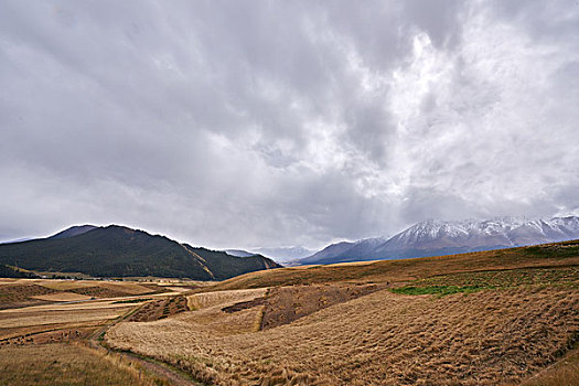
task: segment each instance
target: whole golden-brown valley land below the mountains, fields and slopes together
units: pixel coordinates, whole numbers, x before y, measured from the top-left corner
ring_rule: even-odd
[[[58,366],[117,368],[103,385],[579,380],[579,242],[218,282],[2,279],[0,293],[8,385],[42,385],[23,368],[52,374],[47,347]]]

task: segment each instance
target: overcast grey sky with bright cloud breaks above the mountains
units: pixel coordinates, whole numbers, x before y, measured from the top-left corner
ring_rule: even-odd
[[[0,1],[0,240],[579,214],[579,2]]]

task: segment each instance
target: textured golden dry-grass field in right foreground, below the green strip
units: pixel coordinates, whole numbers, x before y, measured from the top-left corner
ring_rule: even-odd
[[[579,328],[579,293],[521,288],[437,298],[382,290],[276,329],[225,336],[189,318],[121,323],[107,342],[214,384],[495,385],[530,376],[568,347]]]

